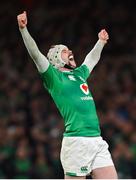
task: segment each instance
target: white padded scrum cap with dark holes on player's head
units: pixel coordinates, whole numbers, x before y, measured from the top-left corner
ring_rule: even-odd
[[[61,52],[66,46],[59,44],[49,49],[47,54],[47,58],[49,62],[56,68],[64,67],[66,62],[64,62],[61,58]]]

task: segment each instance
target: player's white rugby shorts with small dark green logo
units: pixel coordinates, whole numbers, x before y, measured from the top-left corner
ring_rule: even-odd
[[[61,163],[65,175],[86,176],[93,169],[113,166],[108,147],[102,137],[64,137]]]

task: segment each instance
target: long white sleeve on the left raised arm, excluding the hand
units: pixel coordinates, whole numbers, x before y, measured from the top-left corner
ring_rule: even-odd
[[[47,58],[39,51],[35,41],[29,34],[27,28],[20,29],[24,44],[29,52],[29,55],[36,64],[39,72],[45,72],[49,67]]]

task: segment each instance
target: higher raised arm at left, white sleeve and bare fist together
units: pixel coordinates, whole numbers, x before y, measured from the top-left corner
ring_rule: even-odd
[[[24,11],[17,16],[19,30],[21,32],[24,44],[29,52],[29,55],[36,64],[39,72],[45,72],[48,69],[49,62],[47,58],[39,51],[35,41],[27,30],[27,14]]]

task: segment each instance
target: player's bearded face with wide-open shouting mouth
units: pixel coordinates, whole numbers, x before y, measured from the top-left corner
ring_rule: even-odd
[[[61,58],[63,61],[66,62],[67,65],[69,65],[72,68],[76,67],[76,62],[74,60],[74,55],[71,50],[68,48],[64,48],[61,52]]]

